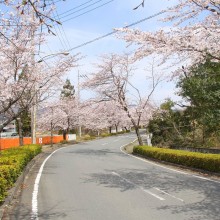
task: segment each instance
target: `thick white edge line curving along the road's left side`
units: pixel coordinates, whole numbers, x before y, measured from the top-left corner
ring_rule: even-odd
[[[46,164],[47,160],[53,155],[55,154],[57,151],[59,150],[62,150],[66,147],[63,147],[63,148],[60,148],[60,149],[57,149],[55,150],[54,152],[52,152],[45,160],[44,162],[42,163],[39,171],[38,171],[38,174],[37,174],[37,177],[35,179],[35,182],[34,182],[34,190],[33,190],[33,193],[32,193],[32,213],[31,213],[31,219],[34,219],[34,220],[38,220],[38,201],[37,201],[37,197],[38,197],[38,189],[39,189],[39,183],[40,183],[40,178],[41,178],[41,175],[42,175],[42,172],[43,172],[43,169],[44,169],[44,165]]]

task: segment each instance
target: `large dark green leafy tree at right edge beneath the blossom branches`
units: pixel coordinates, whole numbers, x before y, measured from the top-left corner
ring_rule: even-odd
[[[205,139],[220,132],[220,63],[210,62],[195,66],[181,77],[177,87],[180,95],[190,103],[187,110],[191,120],[202,131]],[[194,128],[195,129],[195,128]]]

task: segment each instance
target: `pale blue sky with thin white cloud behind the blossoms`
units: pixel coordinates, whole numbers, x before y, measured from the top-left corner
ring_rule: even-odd
[[[176,0],[146,0],[144,7],[133,10],[141,3],[141,0],[66,0],[57,1],[56,10],[53,13],[62,26],[55,25],[53,30],[56,36],[48,36],[47,44],[42,47],[42,56],[58,51],[69,51],[71,54],[81,53],[84,58],[79,62],[79,68],[68,73],[68,78],[77,87],[78,71],[81,75],[90,75],[94,71],[94,63],[99,61],[102,54],[119,53],[131,51],[134,48],[127,47],[126,43],[110,35],[91,44],[71,50],[85,42],[103,36],[136,21],[144,19],[163,9],[175,4]],[[160,17],[144,21],[134,28],[155,31],[161,27],[169,26],[167,23],[158,21]],[[142,94],[147,94],[149,85],[146,80],[146,69],[149,60],[142,60],[137,64],[137,72],[132,78],[133,83],[140,88]],[[156,70],[157,71],[157,70]],[[161,68],[158,68],[161,71]],[[166,70],[171,75],[171,70]],[[80,78],[82,81],[83,78]],[[87,98],[88,92],[81,91],[82,98]],[[160,104],[165,98],[180,100],[175,95],[175,83],[169,79],[164,80],[156,89],[153,98]]]

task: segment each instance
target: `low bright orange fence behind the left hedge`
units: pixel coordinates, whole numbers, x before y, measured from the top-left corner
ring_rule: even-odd
[[[50,144],[50,136],[42,136],[42,137],[37,137],[37,144]],[[53,136],[53,143],[59,143],[63,140],[63,136]],[[31,144],[31,138],[30,137],[24,137],[23,139],[24,145]],[[19,138],[14,137],[14,138],[1,138],[0,139],[0,150],[8,149],[8,148],[13,148],[13,147],[19,147]]]

